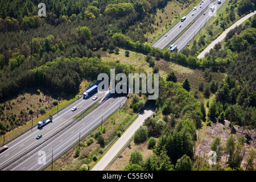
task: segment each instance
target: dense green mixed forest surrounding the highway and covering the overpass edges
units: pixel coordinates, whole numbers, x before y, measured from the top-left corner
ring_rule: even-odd
[[[46,3],[47,16],[43,18],[38,16],[40,2]],[[155,31],[152,24],[156,11],[163,9],[170,2],[168,0],[40,2],[0,2],[0,102],[18,96],[27,88],[37,89],[39,86],[63,97],[76,94],[82,80],[97,80],[98,74],[109,74],[110,68],[115,68],[116,73],[134,73],[135,68],[129,64],[101,60],[101,52],[118,52],[118,47],[122,47],[127,49],[127,56],[129,51],[147,55],[145,63],[150,63],[151,67],[155,67],[154,57],[156,61],[174,61],[184,67],[202,70],[207,83],[199,82],[196,92],[208,100],[206,108],[193,94],[195,90],[191,89],[188,78],[177,82],[174,72],[168,73],[166,80],[160,77],[156,106],[163,117],[146,119],[135,133],[135,136],[146,137],[134,138],[137,144],[148,140],[151,143],[148,148],[152,148],[154,154],[142,162],[141,154],[134,153],[126,170],[207,170],[208,164],[193,154],[196,130],[203,122],[226,119],[231,122],[232,129],[238,125],[255,130],[256,16],[230,31],[225,43],[217,44],[204,59],[197,59],[192,49],[171,53],[147,43],[146,32]],[[238,14],[241,16],[255,10],[251,6],[255,3],[239,1],[236,5]],[[226,77],[214,81],[213,72],[225,73]],[[210,96],[214,96],[211,102]],[[3,115],[5,109],[7,106],[0,105],[1,134],[7,131],[3,123],[11,123],[13,119]],[[222,148],[219,140],[215,138],[211,147],[218,151],[217,160],[226,158],[228,167],[217,166],[215,169],[242,170],[245,141],[241,138],[235,142],[230,135]],[[254,152],[246,159],[250,170],[255,170],[250,162],[255,157]]]

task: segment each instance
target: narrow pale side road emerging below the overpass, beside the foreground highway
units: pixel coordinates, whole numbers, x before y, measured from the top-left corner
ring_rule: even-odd
[[[138,118],[131,124],[131,126],[121,135],[121,137],[114,143],[114,145],[106,152],[106,154],[98,161],[92,168],[92,171],[103,171],[110,162],[115,158],[119,151],[125,144],[133,137],[135,131],[143,124],[144,120],[150,117],[155,111],[155,106],[147,104],[144,110],[138,115]]]

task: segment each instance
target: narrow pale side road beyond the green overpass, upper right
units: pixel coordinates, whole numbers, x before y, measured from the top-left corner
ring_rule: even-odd
[[[228,34],[228,32],[230,30],[232,30],[233,28],[235,28],[236,26],[240,25],[241,23],[243,23],[246,19],[250,18],[251,16],[255,15],[256,14],[256,11],[250,13],[250,14],[247,14],[246,16],[243,16],[243,18],[239,19],[236,23],[234,23],[232,26],[230,26],[227,30],[225,30],[220,36],[218,36],[217,39],[215,39],[212,43],[209,44],[209,46],[207,48],[204,49],[203,52],[201,52],[197,58],[203,58],[205,56],[205,53],[209,52],[210,49],[212,49],[214,47],[215,44],[217,44],[218,42],[221,42],[226,34]]]

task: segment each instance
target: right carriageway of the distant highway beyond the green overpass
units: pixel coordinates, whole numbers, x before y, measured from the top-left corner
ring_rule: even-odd
[[[197,19],[191,25],[191,27],[189,27],[188,30],[184,32],[184,34],[180,35],[179,38],[175,40],[174,44],[177,46],[178,52],[180,52],[185,46],[187,46],[187,44],[201,30],[201,28],[205,26],[210,17],[216,15],[216,11],[224,2],[225,0],[222,0],[221,4],[218,4],[216,1],[215,9],[213,12],[210,11],[210,6],[212,6],[213,3],[210,3],[210,6],[207,9],[205,9],[205,11],[201,12],[199,16],[197,16]]]

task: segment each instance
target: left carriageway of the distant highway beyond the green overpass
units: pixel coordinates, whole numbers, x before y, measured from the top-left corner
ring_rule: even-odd
[[[189,13],[186,16],[186,19],[184,20],[184,22],[181,22],[179,20],[178,23],[175,24],[175,26],[173,26],[168,32],[166,32],[165,34],[167,34],[167,36],[163,35],[161,38],[159,38],[158,40],[156,40],[156,42],[154,42],[151,46],[153,47],[158,47],[161,49],[164,49],[166,46],[168,46],[168,44],[170,44],[181,32],[183,32],[185,30],[185,28],[196,18],[196,16],[200,13],[203,12],[203,10],[208,7],[210,5],[210,3],[212,3],[213,1],[210,0],[204,0],[203,3],[200,3],[196,6],[196,10],[193,11],[189,11]],[[217,3],[216,3],[217,4]],[[201,8],[200,8],[201,6]],[[192,15],[193,14],[193,15]],[[182,17],[180,17],[182,18]],[[179,47],[178,47],[179,49]]]

